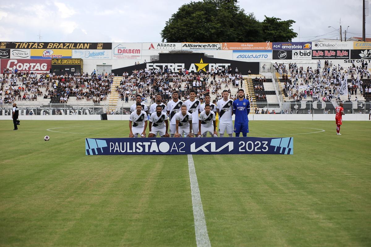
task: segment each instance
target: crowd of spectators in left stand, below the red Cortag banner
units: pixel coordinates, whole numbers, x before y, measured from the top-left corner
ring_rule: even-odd
[[[89,76],[88,73],[55,75],[4,69],[0,76],[0,102],[36,101],[42,97],[66,103],[69,96],[74,95],[78,101],[86,99],[99,103],[105,101],[111,92],[113,78],[113,73],[97,75],[95,70]]]

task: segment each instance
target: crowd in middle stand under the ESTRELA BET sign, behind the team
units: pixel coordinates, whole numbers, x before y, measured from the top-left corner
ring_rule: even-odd
[[[195,90],[197,98],[204,98],[210,94],[214,99],[221,99],[221,91],[227,89],[230,98],[237,98],[232,95],[230,86],[240,87],[242,85],[242,75],[235,71],[226,69],[211,70],[211,72],[188,73],[187,70],[180,70],[179,73],[164,69],[142,69],[134,70],[131,75],[124,73],[120,85],[116,87],[122,101],[134,101],[135,95],[141,95],[142,101],[148,103],[155,102],[155,95],[160,93],[163,101],[171,99],[174,90],[179,91],[180,99],[189,98],[189,91]]]

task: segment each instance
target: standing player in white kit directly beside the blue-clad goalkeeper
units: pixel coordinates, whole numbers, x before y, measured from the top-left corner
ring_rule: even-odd
[[[228,99],[229,93],[227,90],[223,90],[223,99],[220,99],[216,103],[216,111],[219,115],[219,134],[220,137],[224,136],[224,132],[232,137],[233,135],[233,124],[232,124],[232,99]]]

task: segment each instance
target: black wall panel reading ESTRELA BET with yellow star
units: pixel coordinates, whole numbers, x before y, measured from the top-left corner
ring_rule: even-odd
[[[162,71],[164,69],[170,69],[171,72],[177,73],[179,70],[185,68],[189,73],[206,73],[210,72],[213,68],[216,70],[217,67],[220,69],[232,68],[233,72],[237,68],[243,75],[247,75],[249,70],[252,74],[259,74],[259,62],[243,62],[205,57],[204,53],[160,53],[160,59],[158,61],[113,69],[112,72],[115,75],[122,75],[124,72],[131,74],[134,70],[154,68],[161,69]]]

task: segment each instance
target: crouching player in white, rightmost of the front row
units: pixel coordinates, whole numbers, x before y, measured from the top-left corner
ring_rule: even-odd
[[[218,137],[215,124],[215,113],[211,111],[210,105],[205,105],[205,110],[198,117],[198,134],[197,137],[206,137],[207,132],[211,137]]]

